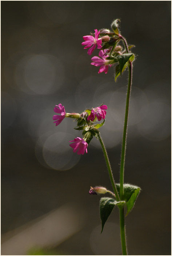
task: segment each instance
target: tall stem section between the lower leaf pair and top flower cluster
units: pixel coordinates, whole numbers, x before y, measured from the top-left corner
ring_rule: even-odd
[[[132,84],[132,63],[128,66],[128,90],[125,108],[125,121],[124,121],[124,132],[123,132],[123,143],[121,151],[121,165],[120,165],[120,200],[123,200],[124,196],[124,165],[125,165],[125,150],[126,150],[126,138],[127,138],[127,123],[128,123],[128,110],[129,110],[129,98]]]

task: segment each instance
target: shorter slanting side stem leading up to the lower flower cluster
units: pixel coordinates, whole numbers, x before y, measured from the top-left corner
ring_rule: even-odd
[[[97,137],[99,138],[101,147],[103,149],[103,153],[104,153],[105,161],[106,161],[108,172],[109,172],[109,177],[110,177],[110,180],[111,180],[111,183],[112,183],[113,191],[115,193],[116,199],[118,201],[120,201],[119,195],[118,195],[118,192],[117,192],[117,189],[116,189],[116,185],[115,185],[115,180],[113,179],[113,173],[112,173],[111,165],[110,165],[110,162],[109,162],[108,154],[107,154],[105,145],[103,143],[103,140],[101,139],[100,133],[97,134]]]

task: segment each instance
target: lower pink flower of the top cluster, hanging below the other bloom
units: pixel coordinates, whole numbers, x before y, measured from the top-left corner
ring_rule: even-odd
[[[102,73],[105,72],[105,74],[107,74],[108,72],[108,66],[111,67],[111,65],[109,65],[109,60],[107,60],[106,58],[108,57],[108,55],[105,55],[106,51],[105,50],[101,50],[99,52],[99,56],[94,56],[91,58],[91,60],[93,61],[91,63],[91,65],[94,65],[96,67],[100,66],[99,72],[98,73]]]

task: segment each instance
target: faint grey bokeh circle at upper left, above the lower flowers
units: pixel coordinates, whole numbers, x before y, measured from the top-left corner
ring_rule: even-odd
[[[46,95],[57,91],[63,84],[64,67],[51,55],[26,55],[16,65],[14,78],[21,91]]]

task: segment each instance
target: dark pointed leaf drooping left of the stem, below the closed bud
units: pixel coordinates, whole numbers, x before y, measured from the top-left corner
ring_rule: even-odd
[[[101,197],[100,199],[100,218],[101,218],[101,233],[104,228],[104,224],[107,221],[109,215],[111,214],[113,207],[117,204],[124,204],[124,201],[116,201],[110,197]]]

